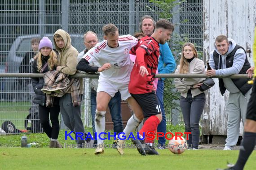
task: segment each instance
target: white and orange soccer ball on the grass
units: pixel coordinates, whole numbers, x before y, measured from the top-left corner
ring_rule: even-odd
[[[184,139],[184,137],[177,137],[177,140],[175,140],[175,136],[172,138],[172,140],[169,141],[168,148],[169,150],[174,154],[181,154],[183,153],[187,148],[187,141]]]

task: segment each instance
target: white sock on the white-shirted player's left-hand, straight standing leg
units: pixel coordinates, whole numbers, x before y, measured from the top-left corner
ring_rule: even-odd
[[[106,114],[106,111],[98,111],[98,110],[96,110],[96,113],[95,113],[94,124],[95,124],[95,131],[97,132],[97,144],[103,144],[103,140],[99,138],[99,134],[105,131],[105,122],[106,122],[105,114]],[[104,134],[101,134],[100,136],[101,138],[103,138]]]

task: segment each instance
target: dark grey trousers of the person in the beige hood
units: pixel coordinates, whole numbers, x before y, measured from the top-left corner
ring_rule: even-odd
[[[60,98],[60,111],[63,121],[71,131],[82,132],[84,134],[84,124],[81,119],[81,107],[73,106],[71,93],[66,93]],[[83,135],[84,139],[84,135]],[[77,144],[85,143],[85,140],[75,140]]]

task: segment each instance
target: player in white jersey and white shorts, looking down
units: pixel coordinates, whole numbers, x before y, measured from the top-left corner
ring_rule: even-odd
[[[132,61],[129,51],[137,44],[137,38],[131,35],[119,36],[118,28],[113,24],[107,24],[102,28],[104,41],[90,49],[77,65],[77,70],[84,72],[100,72],[97,89],[97,109],[95,114],[95,129],[97,132],[97,149],[95,154],[104,153],[103,134],[105,130],[105,114],[107,105],[116,92],[121,93],[122,100],[127,100],[134,112],[133,119],[127,123],[127,131],[132,132],[143,119],[141,106],[128,92],[128,84],[132,71]],[[91,67],[93,62],[100,64],[100,68]],[[119,152],[120,153],[120,152]],[[120,154],[123,154],[120,153]]]

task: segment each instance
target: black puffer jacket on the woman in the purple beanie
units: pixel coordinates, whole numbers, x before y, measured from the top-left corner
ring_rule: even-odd
[[[44,64],[47,62],[47,60],[49,59],[49,56],[44,57],[42,56],[42,68],[44,67]],[[53,70],[56,70],[56,67],[54,67]],[[44,68],[44,71],[42,73],[48,72],[49,68],[48,66]],[[32,65],[32,73],[40,73],[37,70],[37,59],[35,59],[35,61],[33,62]],[[39,104],[41,106],[45,106],[46,103],[46,95],[41,91],[41,89],[44,86],[44,78],[43,77],[37,77],[37,78],[31,78],[32,79],[32,85],[33,85],[33,89],[35,92],[35,98],[34,98],[34,103]],[[54,97],[54,102],[53,105],[58,105],[59,104],[59,98],[58,97]]]

